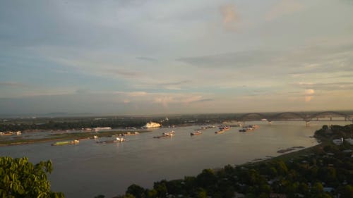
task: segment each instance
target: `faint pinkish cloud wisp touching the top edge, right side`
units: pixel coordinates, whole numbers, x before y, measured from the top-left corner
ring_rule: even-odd
[[[297,11],[301,11],[304,8],[303,4],[296,0],[280,0],[278,1],[272,9],[266,14],[266,20],[274,20],[275,18],[280,18]]]

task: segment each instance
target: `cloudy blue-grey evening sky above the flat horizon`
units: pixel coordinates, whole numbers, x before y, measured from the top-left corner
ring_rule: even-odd
[[[0,1],[0,114],[353,109],[353,1]]]

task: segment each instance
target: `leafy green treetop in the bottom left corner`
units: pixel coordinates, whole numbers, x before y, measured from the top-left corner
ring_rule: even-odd
[[[33,165],[28,158],[0,158],[0,197],[62,198],[62,192],[50,191],[47,173],[52,172],[52,161]]]

